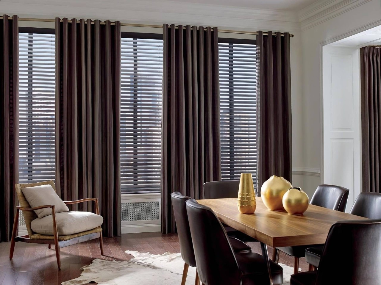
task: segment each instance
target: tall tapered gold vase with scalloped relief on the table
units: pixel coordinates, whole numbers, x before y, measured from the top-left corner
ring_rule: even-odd
[[[241,173],[238,189],[238,210],[242,214],[252,214],[256,207],[253,176],[250,172]]]

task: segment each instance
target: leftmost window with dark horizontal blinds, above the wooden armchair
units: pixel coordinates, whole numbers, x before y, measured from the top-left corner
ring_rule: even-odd
[[[54,37],[51,29],[20,28],[20,183],[54,179]]]

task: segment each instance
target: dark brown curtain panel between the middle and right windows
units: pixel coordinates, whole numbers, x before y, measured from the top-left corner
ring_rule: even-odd
[[[217,28],[163,26],[162,232],[174,232],[171,193],[202,199],[221,180]]]

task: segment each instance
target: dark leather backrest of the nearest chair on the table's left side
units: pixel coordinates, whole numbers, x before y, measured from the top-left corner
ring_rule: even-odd
[[[204,284],[240,285],[241,272],[224,227],[209,207],[187,200],[197,272]]]

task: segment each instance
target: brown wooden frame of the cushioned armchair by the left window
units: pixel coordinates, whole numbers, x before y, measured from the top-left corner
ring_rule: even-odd
[[[46,181],[49,182],[48,184],[53,183],[53,181]],[[38,184],[38,183],[34,183]],[[53,186],[54,188],[54,186]],[[55,190],[55,189],[54,189]],[[87,198],[87,199],[81,199],[76,201],[63,201],[66,205],[70,204],[78,204],[88,201],[94,201],[95,202],[95,211],[96,214],[99,215],[99,205],[98,205],[98,198]],[[18,223],[19,223],[19,212],[22,211],[34,211],[39,210],[43,208],[51,208],[52,211],[52,218],[53,218],[53,237],[54,239],[31,239],[29,234],[28,235],[20,235],[16,237],[16,232],[18,229]],[[93,239],[99,239],[99,246],[101,248],[101,255],[103,255],[103,239],[102,239],[102,231],[100,232],[94,232],[91,234],[82,235],[79,237],[74,237],[69,240],[59,240],[58,231],[57,231],[57,223],[56,223],[56,213],[54,211],[55,206],[54,205],[43,205],[38,206],[34,208],[25,208],[25,207],[16,207],[16,216],[14,217],[13,222],[13,231],[12,231],[12,238],[11,238],[11,249],[9,253],[9,258],[13,258],[13,252],[14,252],[14,246],[16,242],[26,242],[26,243],[42,243],[42,244],[48,244],[49,248],[51,248],[51,245],[54,244],[54,248],[56,250],[56,257],[57,257],[57,265],[58,269],[61,270],[61,256],[60,256],[60,248],[61,247],[67,247],[69,245],[74,245],[76,243],[86,242],[88,240]]]

